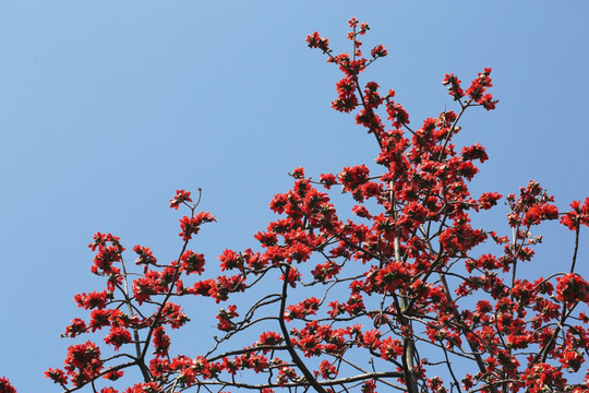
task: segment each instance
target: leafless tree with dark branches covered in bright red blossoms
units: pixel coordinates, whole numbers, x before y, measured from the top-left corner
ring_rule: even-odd
[[[255,235],[260,251],[224,251],[227,273],[217,277],[201,278],[205,258],[190,249],[201,226],[215,222],[197,211],[200,194],[193,203],[178,190],[170,201],[190,213],[180,219],[183,243],[172,262],[135,246],[133,272],[120,239],[96,234],[92,272],[106,278],[106,288],[75,296],[89,318],[74,319],[64,335],[104,332],[110,354],[91,340],[70,346],[64,368],[46,372],[63,391],[117,392],[108,380],[127,382],[123,374],[133,377],[133,369],[142,382],[124,392],[589,390],[581,367],[589,283],[575,273],[589,198],[560,212],[530,181],[505,199],[510,236],[472,228],[471,216],[502,195],[470,194],[474,163],[488,156],[480,144],[458,150],[454,141],[467,109],[495,108],[491,69],[466,91],[447,74],[443,83],[457,111],[413,129],[395,92],[383,95],[375,82],[360,82],[387,51],[378,45],[363,57],[360,38],[369,26],[349,23],[351,55],[334,55],[318,33],[306,41],[344,73],[333,107],[357,112],[378,147],[376,167],[346,167],[318,181],[296,168],[292,189],[271,203],[280,218]],[[336,187],[351,196],[351,214],[336,211]],[[569,265],[546,277],[519,277],[518,264],[530,262],[541,241],[532,227],[552,219],[574,234]],[[497,251],[481,253],[484,242]],[[199,356],[172,354],[171,330],[189,321],[179,302],[192,296],[228,302],[217,315],[219,336]],[[11,389],[0,380],[0,392]]]

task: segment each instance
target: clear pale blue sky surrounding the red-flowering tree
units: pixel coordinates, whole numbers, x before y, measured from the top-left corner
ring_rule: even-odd
[[[0,0],[0,377],[59,390],[43,371],[71,344],[59,334],[79,315],[73,295],[103,284],[89,273],[95,231],[172,260],[168,200],[202,187],[218,224],[195,248],[215,263],[255,245],[294,167],[316,177],[372,162],[373,141],[330,109],[339,71],[304,43],[318,31],[349,51],[351,16],[370,23],[366,47],[390,53],[362,78],[396,90],[412,124],[453,108],[445,73],[468,83],[493,68],[497,109],[462,123],[460,141],[491,157],[473,191],[534,179],[562,209],[585,199],[587,15],[585,0]],[[567,263],[570,245],[555,228],[538,263]],[[214,314],[185,329],[211,335]]]

